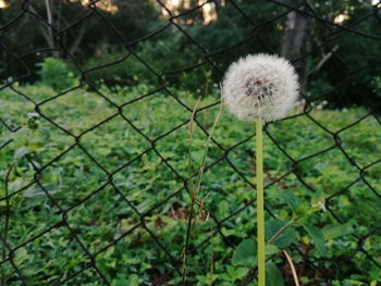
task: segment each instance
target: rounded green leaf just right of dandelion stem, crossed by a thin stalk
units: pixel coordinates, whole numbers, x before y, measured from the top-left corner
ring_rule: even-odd
[[[270,220],[266,222],[266,241],[269,241],[286,223],[281,220]],[[287,227],[271,244],[278,248],[286,248],[296,240],[296,232],[293,227]]]

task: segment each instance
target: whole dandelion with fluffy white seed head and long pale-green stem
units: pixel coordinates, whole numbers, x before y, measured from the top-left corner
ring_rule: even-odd
[[[256,122],[258,286],[266,285],[262,123],[285,116],[296,104],[298,90],[290,62],[265,53],[232,63],[221,85],[228,110],[239,120]]]

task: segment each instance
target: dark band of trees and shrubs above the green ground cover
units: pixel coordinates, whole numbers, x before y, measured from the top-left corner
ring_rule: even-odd
[[[196,94],[216,89],[239,57],[270,52],[293,61],[308,98],[331,108],[381,100],[376,0],[102,0],[96,9],[89,2],[0,0],[0,80],[49,84],[45,69],[46,77],[61,75],[52,84],[59,91],[76,77],[110,87],[161,83]]]

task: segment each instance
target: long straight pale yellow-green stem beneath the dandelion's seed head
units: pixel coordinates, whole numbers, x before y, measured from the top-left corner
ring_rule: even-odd
[[[265,286],[265,202],[263,202],[263,157],[262,122],[256,121],[256,169],[257,169],[257,241],[258,241],[258,286]]]

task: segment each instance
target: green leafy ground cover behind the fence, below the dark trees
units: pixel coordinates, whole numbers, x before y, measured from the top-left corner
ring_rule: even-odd
[[[35,102],[57,95],[46,86],[17,90]],[[101,89],[118,105],[149,91],[147,86]],[[195,105],[190,94],[172,91],[187,107]],[[160,285],[181,285],[190,207],[184,182],[189,176],[192,110],[160,91],[122,105],[118,113],[108,100],[81,88],[40,105],[54,125],[44,116],[28,117],[34,105],[13,90],[3,89],[0,98],[1,119],[22,127],[10,133],[0,124],[0,146],[13,140],[0,150],[0,197],[13,194],[0,201],[0,233],[8,241],[8,247],[1,245],[3,285],[22,285],[7,260],[10,256],[29,285],[54,285],[82,270],[63,284],[103,285],[101,273],[113,286],[155,285],[169,273]],[[206,97],[200,108],[216,100],[217,96]],[[197,122],[209,130],[218,110],[219,105],[200,110]],[[293,111],[302,112],[302,107]],[[290,172],[293,161],[266,135],[267,239],[272,240],[267,249],[269,285],[293,285],[281,249],[292,256],[304,285],[325,285],[324,277],[336,286],[381,282],[381,234],[373,231],[380,224],[381,164],[369,165],[381,153],[380,124],[368,116],[341,130],[366,113],[361,108],[314,110],[310,117],[268,126],[272,139],[298,160],[295,172]],[[336,140],[314,121],[333,133],[341,130]],[[207,167],[197,196],[202,207],[196,206],[194,212],[189,249],[197,248],[187,260],[189,285],[211,281],[239,285],[256,264],[256,212],[248,206],[255,199],[253,135],[251,123],[222,112],[212,136],[220,146],[209,146],[206,165],[214,164]],[[362,169],[365,181],[340,148],[330,149],[337,140]],[[195,124],[192,173],[199,169],[206,141],[207,135]],[[328,151],[308,158],[323,150]],[[40,170],[37,176],[34,169]],[[324,203],[336,217],[324,211]],[[274,237],[287,223],[291,226]],[[357,251],[359,247],[366,252]],[[171,272],[176,260],[180,272]]]

